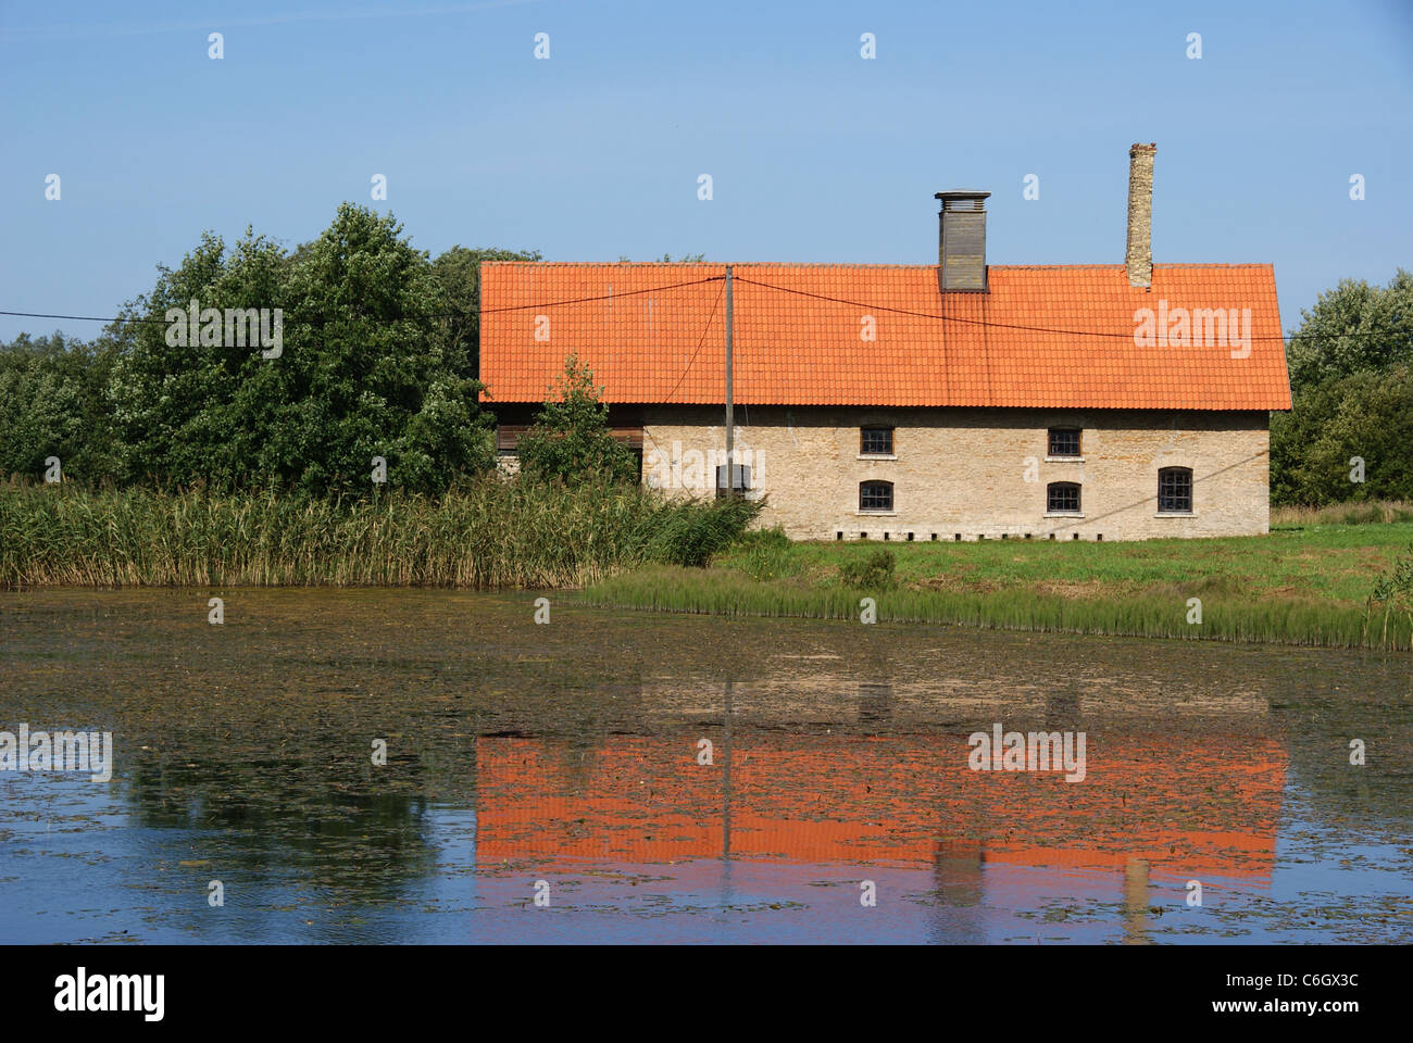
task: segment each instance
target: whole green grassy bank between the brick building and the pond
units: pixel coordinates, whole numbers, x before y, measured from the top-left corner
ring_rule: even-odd
[[[1308,524],[1270,536],[1142,543],[797,543],[752,533],[705,570],[606,578],[593,605],[716,615],[877,619],[1013,630],[1413,647],[1407,601],[1368,615],[1413,522]],[[892,570],[870,570],[886,547]],[[1190,599],[1201,602],[1201,622]],[[1385,609],[1389,609],[1385,612]]]

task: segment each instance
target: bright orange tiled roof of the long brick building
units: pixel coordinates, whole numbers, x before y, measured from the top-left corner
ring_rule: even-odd
[[[989,293],[947,295],[930,264],[732,267],[740,404],[1290,408],[1269,264],[1154,264],[1152,291],[1130,287],[1122,264],[992,266]],[[544,401],[574,352],[609,403],[722,403],[723,271],[482,264],[490,400]],[[1135,312],[1160,301],[1249,308],[1249,355],[1137,346]],[[873,341],[861,338],[866,315]]]

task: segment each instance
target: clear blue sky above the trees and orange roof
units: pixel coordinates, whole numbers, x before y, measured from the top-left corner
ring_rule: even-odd
[[[1413,0],[0,3],[0,310],[112,315],[343,199],[434,256],[934,263],[933,194],[981,188],[992,263],[1116,263],[1133,141],[1154,260],[1275,263],[1287,328],[1413,267]],[[97,332],[0,317],[54,328]]]

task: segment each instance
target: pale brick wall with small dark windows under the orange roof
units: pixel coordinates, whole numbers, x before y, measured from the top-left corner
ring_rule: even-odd
[[[896,459],[861,458],[861,427],[893,427]],[[1145,540],[1269,531],[1269,414],[1142,410],[738,407],[736,449],[760,524],[794,538]],[[1047,459],[1051,427],[1080,459]],[[725,462],[723,410],[646,411],[643,481],[706,495]],[[1193,469],[1193,514],[1159,516],[1157,472]],[[893,512],[859,512],[859,483],[893,483]],[[1082,517],[1046,517],[1046,486],[1078,482]]]

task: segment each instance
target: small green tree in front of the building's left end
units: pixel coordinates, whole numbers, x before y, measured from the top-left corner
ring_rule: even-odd
[[[613,438],[609,407],[593,373],[571,355],[551,397],[517,444],[520,473],[528,481],[585,482],[637,478],[632,451]]]

